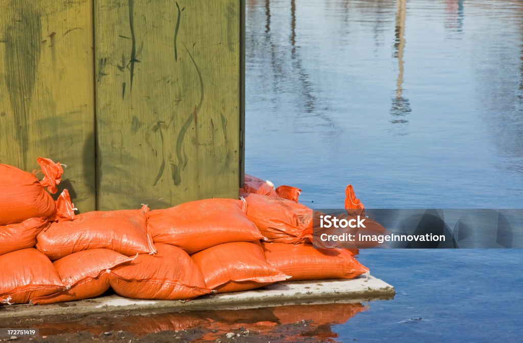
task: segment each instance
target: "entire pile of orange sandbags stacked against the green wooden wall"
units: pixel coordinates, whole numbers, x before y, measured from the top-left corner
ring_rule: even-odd
[[[48,193],[57,191],[61,165],[38,163],[40,181],[0,165],[1,303],[87,299],[109,288],[128,298],[182,300],[368,270],[356,249],[312,246],[313,213],[295,187],[275,189],[247,175],[240,200],[76,215],[67,190],[57,201]],[[345,205],[363,209],[351,186]]]

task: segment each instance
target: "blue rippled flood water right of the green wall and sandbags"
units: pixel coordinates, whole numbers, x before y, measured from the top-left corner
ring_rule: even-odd
[[[343,207],[521,208],[523,2],[247,0],[249,174]],[[523,250],[362,250],[336,341],[519,341]]]

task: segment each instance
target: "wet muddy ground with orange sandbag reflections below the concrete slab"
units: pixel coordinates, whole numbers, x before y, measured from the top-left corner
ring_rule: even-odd
[[[39,329],[39,336],[17,337],[21,342],[335,342],[333,327],[366,309],[334,302],[147,315],[127,310],[13,318],[2,326]]]

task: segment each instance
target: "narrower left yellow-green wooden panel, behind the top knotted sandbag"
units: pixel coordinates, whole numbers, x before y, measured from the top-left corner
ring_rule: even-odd
[[[68,188],[95,209],[92,0],[0,0],[0,163],[68,165]]]

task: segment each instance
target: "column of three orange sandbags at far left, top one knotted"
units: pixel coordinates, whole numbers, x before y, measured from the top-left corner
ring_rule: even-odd
[[[34,248],[36,237],[49,225],[55,193],[63,173],[59,163],[38,158],[43,174],[0,164],[0,303],[27,303],[65,289],[49,258]]]

